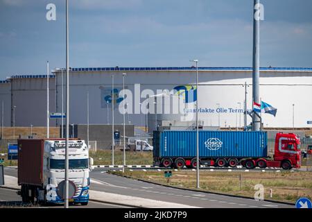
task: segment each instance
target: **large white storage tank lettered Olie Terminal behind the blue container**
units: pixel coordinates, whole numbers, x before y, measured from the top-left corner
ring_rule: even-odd
[[[122,104],[123,101],[123,94],[120,93],[123,87],[123,73],[127,74],[125,88],[132,92],[132,101],[127,105],[131,112],[125,114],[125,121],[134,123],[136,126],[148,125],[146,114],[139,114],[140,110],[148,108],[146,105],[147,95],[153,97],[163,89],[179,89],[178,93],[182,92],[182,95],[185,95],[185,92],[196,92],[194,91],[196,89],[196,69],[194,67],[73,68],[69,78],[69,122],[87,123],[87,92],[89,92],[89,122],[112,123],[112,75],[114,75],[114,101],[116,104],[114,105],[114,123],[122,123],[119,103]],[[61,71],[55,71],[53,74],[56,81],[55,112],[60,112],[62,106]],[[65,75],[63,76],[65,80]],[[198,76],[198,111],[199,119],[204,126],[243,127],[245,100],[243,85],[245,83],[249,85],[247,87],[247,109],[251,110],[252,69],[199,68]],[[65,84],[65,81],[63,83]],[[261,68],[260,95],[261,101],[277,108],[276,117],[271,114],[261,114],[264,127],[311,127],[307,121],[312,120],[312,69]],[[129,99],[128,96],[127,94],[126,98]],[[195,112],[194,106],[192,106],[195,101],[195,97],[187,101],[184,111]],[[157,121],[170,119],[168,115],[162,116],[164,110],[159,108],[158,104],[159,101],[155,99],[149,105],[150,109],[151,106],[157,105],[155,121],[157,118]],[[249,116],[247,121],[248,124],[251,122]],[[153,126],[155,125],[153,124]],[[153,128],[153,126],[148,127]]]

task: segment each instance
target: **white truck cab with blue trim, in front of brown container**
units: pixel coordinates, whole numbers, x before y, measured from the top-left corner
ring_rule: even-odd
[[[65,179],[65,148],[64,140],[46,140],[44,142],[43,187],[45,187],[45,191],[41,191],[39,196],[40,199],[47,202],[64,202],[58,196],[57,189],[60,182]],[[84,140],[69,140],[69,182],[76,187],[75,194],[69,196],[71,202],[87,205],[90,185],[89,171],[92,162],[89,159],[89,151]]]

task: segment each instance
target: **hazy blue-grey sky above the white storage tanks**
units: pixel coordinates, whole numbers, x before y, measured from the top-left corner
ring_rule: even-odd
[[[0,0],[0,79],[65,66],[64,0]],[[55,3],[57,20],[46,21]],[[262,0],[261,67],[312,67],[312,1]],[[69,0],[70,67],[252,66],[252,0]]]

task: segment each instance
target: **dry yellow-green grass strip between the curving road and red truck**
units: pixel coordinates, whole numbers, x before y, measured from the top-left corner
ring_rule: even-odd
[[[159,182],[175,187],[196,189],[196,172],[173,171],[173,176],[167,183],[164,172],[158,171],[125,171],[110,172],[119,175],[130,176],[151,182]],[[242,187],[240,182],[242,176]],[[200,171],[200,189],[222,194],[234,194],[239,196],[254,197],[254,185],[261,184],[264,187],[264,195],[268,200],[281,200],[295,203],[297,198],[312,197],[312,172],[210,172]],[[272,189],[272,198],[270,198]]]

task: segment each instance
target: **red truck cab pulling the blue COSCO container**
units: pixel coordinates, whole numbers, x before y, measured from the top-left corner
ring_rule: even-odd
[[[277,133],[273,159],[274,161],[268,161],[268,167],[300,168],[300,138],[293,133]]]

